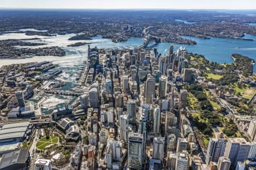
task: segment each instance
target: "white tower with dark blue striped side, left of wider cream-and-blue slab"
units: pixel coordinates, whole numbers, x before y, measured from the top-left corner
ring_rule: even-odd
[[[210,162],[218,162],[218,158],[224,156],[226,148],[226,141],[222,138],[210,138],[206,163],[209,165]]]

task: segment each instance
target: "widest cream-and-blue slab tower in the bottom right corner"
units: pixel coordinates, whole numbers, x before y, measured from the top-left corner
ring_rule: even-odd
[[[230,159],[230,166],[235,168],[238,161],[243,162],[247,158],[249,150],[250,143],[245,138],[229,138],[224,156]]]

